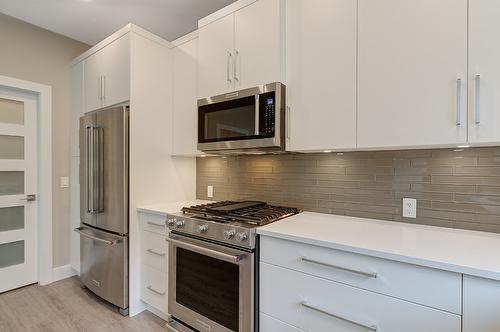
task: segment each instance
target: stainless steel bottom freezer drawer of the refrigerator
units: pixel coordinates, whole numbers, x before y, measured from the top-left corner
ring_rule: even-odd
[[[92,292],[120,307],[128,307],[128,236],[83,225],[80,233],[80,281]]]

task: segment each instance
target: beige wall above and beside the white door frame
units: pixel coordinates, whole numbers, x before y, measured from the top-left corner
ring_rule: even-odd
[[[69,263],[71,75],[69,64],[89,45],[0,14],[0,75],[52,86],[53,265]]]

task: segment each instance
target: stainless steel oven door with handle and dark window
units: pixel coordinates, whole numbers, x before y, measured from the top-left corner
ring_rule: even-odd
[[[254,253],[170,233],[168,310],[201,332],[253,332]]]

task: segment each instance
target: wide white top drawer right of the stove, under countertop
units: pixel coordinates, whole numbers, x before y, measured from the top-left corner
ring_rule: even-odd
[[[261,261],[461,313],[458,273],[353,254],[304,243],[261,237]],[[370,274],[376,274],[370,275]]]

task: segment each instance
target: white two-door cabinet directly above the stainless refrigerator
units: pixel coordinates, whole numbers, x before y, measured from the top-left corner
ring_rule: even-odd
[[[130,99],[130,36],[126,34],[84,60],[85,112]]]

